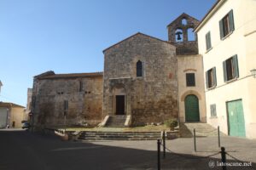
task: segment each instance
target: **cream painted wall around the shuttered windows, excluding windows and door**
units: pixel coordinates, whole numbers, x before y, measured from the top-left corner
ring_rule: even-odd
[[[247,138],[256,138],[256,78],[251,70],[256,68],[256,1],[223,0],[225,2],[210,20],[197,30],[199,54],[203,55],[204,72],[216,66],[217,87],[206,89],[207,122],[220,126],[228,133],[226,102],[242,99]],[[235,31],[220,40],[218,21],[233,9]],[[207,52],[206,34],[211,31],[212,49]],[[224,82],[223,61],[234,54],[238,57],[239,78]],[[210,105],[216,104],[217,118],[211,118]]]

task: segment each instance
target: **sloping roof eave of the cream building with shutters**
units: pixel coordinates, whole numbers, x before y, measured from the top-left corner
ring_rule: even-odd
[[[218,8],[220,8],[225,2],[226,0],[217,0],[217,2],[213,4],[212,8],[209,9],[209,11],[204,16],[204,18],[199,22],[199,24],[195,26],[194,31],[198,32],[201,29],[201,27],[204,26],[207,23],[207,21],[212,17],[213,13],[217,11]]]

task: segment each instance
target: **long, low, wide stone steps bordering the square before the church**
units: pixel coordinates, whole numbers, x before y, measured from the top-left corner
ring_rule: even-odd
[[[177,133],[168,132],[167,139],[177,138]],[[161,139],[161,132],[93,132],[84,131],[79,140],[156,140]]]

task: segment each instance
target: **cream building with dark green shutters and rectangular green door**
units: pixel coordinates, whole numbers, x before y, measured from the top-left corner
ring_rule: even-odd
[[[220,0],[195,28],[206,75],[207,122],[249,139],[256,138],[255,8],[255,0]]]

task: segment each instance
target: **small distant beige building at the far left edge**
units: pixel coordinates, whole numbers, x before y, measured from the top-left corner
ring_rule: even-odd
[[[23,120],[26,120],[25,107],[13,103],[0,102],[0,128],[5,128],[7,125],[11,128],[20,128]]]

